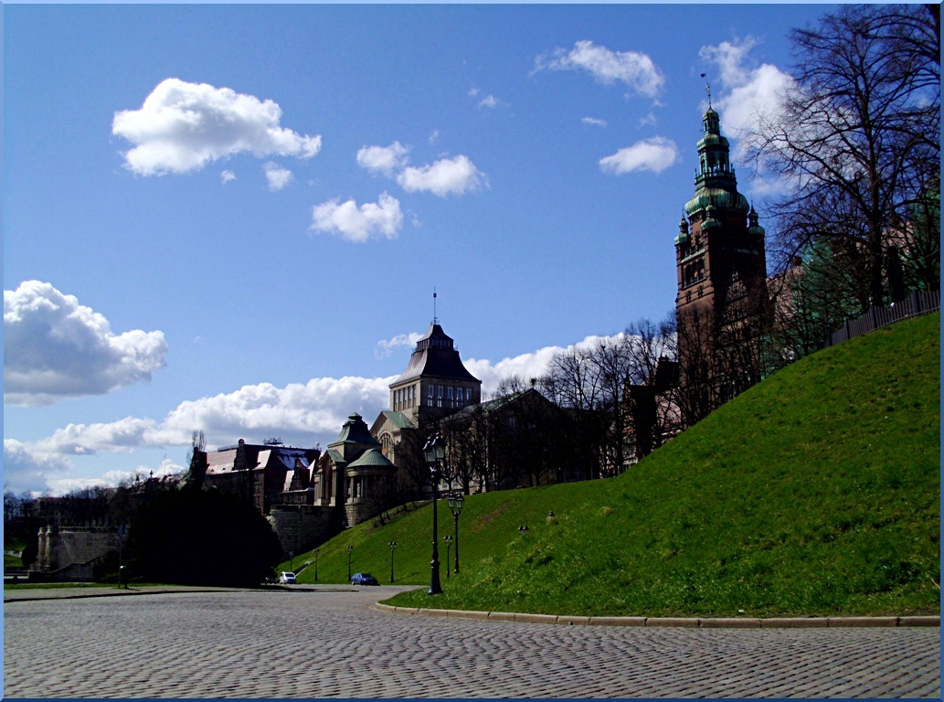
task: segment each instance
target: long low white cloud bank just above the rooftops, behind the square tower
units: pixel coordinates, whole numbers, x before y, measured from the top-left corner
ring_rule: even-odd
[[[380,341],[378,347],[393,350],[414,344],[419,336],[398,334]],[[490,394],[504,378],[518,376],[527,381],[544,375],[560,351],[594,348],[600,340],[609,338],[613,337],[588,336],[566,348],[549,346],[497,363],[470,358],[464,360],[464,365],[482,381],[482,391]],[[100,478],[77,477],[74,460],[100,452],[125,454],[134,449],[189,446],[194,428],[202,430],[212,446],[266,436],[291,437],[295,445],[330,441],[352,412],[359,412],[368,423],[377,417],[389,402],[389,385],[396,377],[313,378],[284,387],[269,383],[244,385],[233,392],[180,402],[160,422],[126,417],[110,423],[70,424],[31,443],[4,439],[5,480],[16,492],[51,490],[56,494],[92,485],[117,485],[150,469],[139,466],[133,471],[108,471]],[[165,459],[154,471],[160,476],[183,469]]]

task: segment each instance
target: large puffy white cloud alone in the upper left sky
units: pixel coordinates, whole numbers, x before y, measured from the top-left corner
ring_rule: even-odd
[[[187,173],[238,153],[310,159],[321,150],[320,136],[281,127],[281,116],[272,100],[167,78],[140,110],[115,112],[111,133],[135,145],[126,167],[141,176]]]

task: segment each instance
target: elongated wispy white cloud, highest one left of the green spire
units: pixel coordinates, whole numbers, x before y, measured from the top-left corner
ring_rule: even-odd
[[[534,71],[586,71],[604,85],[615,81],[625,84],[630,94],[656,97],[666,78],[646,54],[636,51],[611,51],[605,46],[582,41],[567,49],[554,49],[550,56],[538,57]]]

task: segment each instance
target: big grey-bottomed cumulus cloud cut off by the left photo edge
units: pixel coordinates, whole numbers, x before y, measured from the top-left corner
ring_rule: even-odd
[[[50,283],[4,290],[3,306],[5,404],[104,395],[164,367],[162,332],[113,334],[108,319]]]

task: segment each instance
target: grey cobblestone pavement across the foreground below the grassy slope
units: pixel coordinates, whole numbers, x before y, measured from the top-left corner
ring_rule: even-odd
[[[940,629],[520,624],[397,588],[8,602],[12,697],[940,697]]]

